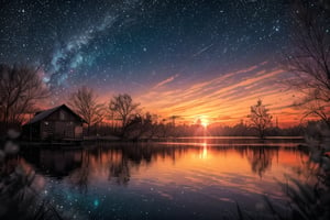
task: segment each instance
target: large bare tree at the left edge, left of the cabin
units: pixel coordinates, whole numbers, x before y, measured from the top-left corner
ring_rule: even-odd
[[[6,130],[9,125],[22,124],[36,102],[50,95],[38,70],[24,65],[0,65],[0,121]]]

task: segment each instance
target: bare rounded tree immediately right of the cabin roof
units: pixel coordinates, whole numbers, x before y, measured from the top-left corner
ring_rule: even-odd
[[[69,106],[87,122],[89,135],[90,127],[102,121],[105,106],[98,102],[95,91],[86,86],[73,92],[69,99]]]

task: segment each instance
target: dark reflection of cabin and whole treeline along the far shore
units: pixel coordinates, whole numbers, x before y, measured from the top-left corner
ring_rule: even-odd
[[[178,141],[178,140],[177,140]],[[248,158],[251,170],[262,177],[265,172],[270,170],[272,160],[279,151],[300,152],[297,147],[280,147],[267,145],[267,141],[258,141],[258,145],[252,145],[255,140],[180,140],[180,142],[160,143],[105,143],[103,145],[86,146],[79,151],[45,151],[33,158],[38,170],[46,175],[62,178],[65,176],[73,187],[86,193],[88,186],[96,179],[102,178],[111,184],[128,185],[134,170],[140,167],[150,166],[157,160],[169,160],[175,163],[182,155],[188,151],[200,152],[202,143],[210,142],[209,148],[221,154],[231,154],[234,152],[241,155],[242,160]],[[186,143],[188,142],[188,143]],[[200,143],[199,143],[200,142]],[[250,143],[251,142],[251,143]],[[265,144],[265,145],[264,145]],[[278,145],[282,143],[278,141]],[[47,152],[47,153],[45,153]],[[63,155],[63,156],[61,156]],[[301,156],[304,157],[305,154]],[[24,156],[25,157],[25,156]],[[31,161],[31,160],[30,160]],[[57,165],[56,165],[57,164]],[[52,167],[62,167],[62,172]],[[54,173],[55,172],[55,173]]]

